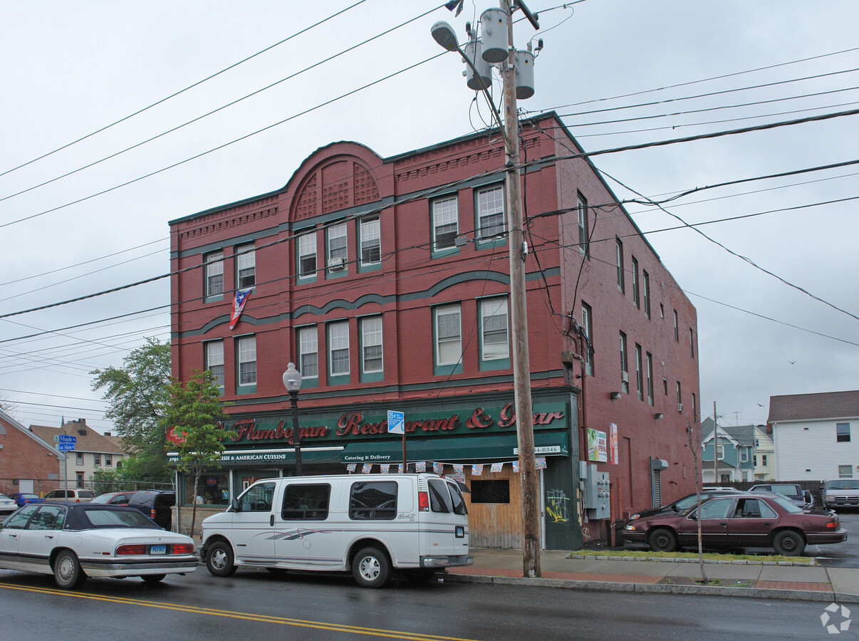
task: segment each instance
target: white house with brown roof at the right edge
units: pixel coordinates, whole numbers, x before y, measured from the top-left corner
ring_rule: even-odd
[[[770,397],[776,480],[859,478],[859,390]]]

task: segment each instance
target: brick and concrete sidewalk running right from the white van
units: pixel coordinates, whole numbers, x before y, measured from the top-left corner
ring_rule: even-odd
[[[503,583],[549,588],[612,592],[663,592],[674,594],[752,596],[762,599],[801,599],[859,603],[859,569],[808,565],[775,565],[720,561],[705,563],[709,584],[699,583],[698,559],[634,559],[623,550],[607,551],[600,558],[569,559],[570,552],[540,553],[542,577],[522,577],[521,550],[472,548],[474,565],[451,568],[448,580]],[[686,559],[684,559],[685,561]],[[801,565],[799,565],[801,563]]]

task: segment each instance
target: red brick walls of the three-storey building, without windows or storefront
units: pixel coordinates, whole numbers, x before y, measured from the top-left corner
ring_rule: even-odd
[[[696,311],[590,162],[565,157],[581,150],[555,114],[524,121],[521,140],[521,159],[529,163],[522,186],[533,394],[571,390],[579,396],[585,388],[571,406],[573,412],[583,406],[584,416],[570,418],[573,437],[581,443],[576,455],[582,458],[586,428],[607,431],[618,425],[618,464],[598,467],[612,480],[612,516],[622,518],[653,500],[651,459],[667,461],[661,472],[666,498],[694,488],[686,430],[699,409]],[[387,159],[357,143],[332,143],[302,162],[282,190],[171,222],[174,375],[186,380],[192,369],[204,369],[204,344],[216,341],[222,344],[224,399],[235,403],[227,411],[235,417],[283,412],[289,401],[281,374],[288,361],[299,364],[297,330],[317,327],[320,375],[302,385],[302,408],[449,402],[509,392],[509,357],[484,358],[480,331],[482,303],[503,300],[509,292],[507,238],[482,238],[476,211],[479,192],[503,184],[503,158],[502,141],[483,134]],[[458,241],[436,250],[434,199],[450,197],[456,198]],[[587,257],[579,247],[581,197],[588,203]],[[379,217],[380,257],[362,264],[361,221],[373,217]],[[347,256],[343,269],[334,271],[326,268],[326,247],[331,226],[338,223],[345,224]],[[296,236],[302,234],[315,238],[312,277],[298,275]],[[618,289],[618,241],[624,291]],[[230,331],[234,253],[250,243],[255,285]],[[213,252],[223,254],[223,293],[206,297],[203,263]],[[592,310],[594,347],[594,372],[584,385],[572,331],[574,321],[582,323],[582,302]],[[462,358],[450,366],[440,365],[436,354],[436,313],[445,305],[460,309]],[[362,320],[368,316],[381,316],[381,375],[361,370]],[[334,321],[348,327],[346,375],[330,374]],[[620,333],[627,340],[628,391],[621,386]],[[256,340],[253,388],[237,382],[237,344],[243,336]],[[652,405],[646,380],[643,399],[637,398],[637,345],[643,364],[652,356]],[[620,398],[612,400],[612,392],[621,392]],[[600,535],[600,523],[587,527],[589,535]]]

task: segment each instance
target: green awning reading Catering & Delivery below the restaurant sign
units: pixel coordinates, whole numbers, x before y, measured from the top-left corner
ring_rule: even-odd
[[[518,457],[515,434],[497,436],[464,436],[462,438],[430,438],[408,440],[405,456],[409,461],[482,461]],[[566,432],[537,432],[534,450],[538,456],[569,456],[570,444]],[[303,455],[303,451],[302,451]],[[349,443],[340,454],[344,463],[396,463],[403,460],[401,439],[365,443]]]

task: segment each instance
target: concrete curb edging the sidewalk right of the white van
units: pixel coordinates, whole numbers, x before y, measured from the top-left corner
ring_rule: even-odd
[[[574,579],[490,577],[476,574],[446,574],[445,581],[520,585],[535,588],[582,589],[593,592],[631,592],[641,594],[745,596],[755,599],[796,599],[799,601],[837,601],[859,603],[859,595],[838,594],[832,590],[733,588],[716,585],[672,585],[666,583],[621,583],[613,581],[576,581]]]

